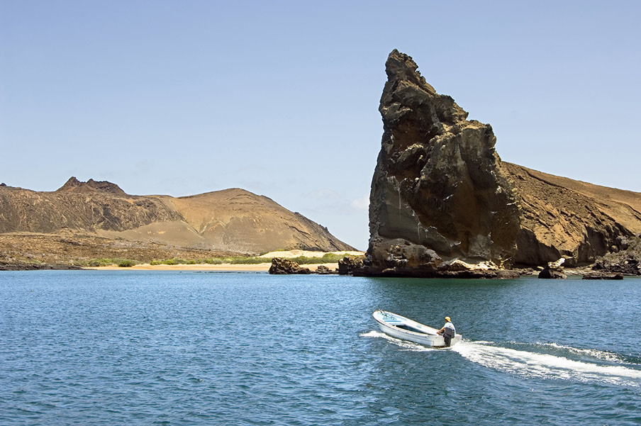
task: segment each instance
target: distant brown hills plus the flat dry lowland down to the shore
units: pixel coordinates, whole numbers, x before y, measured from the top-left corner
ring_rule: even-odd
[[[133,196],[75,178],[57,191],[0,186],[0,268],[69,267],[89,259],[210,259],[273,250],[354,250],[327,228],[243,189]]]

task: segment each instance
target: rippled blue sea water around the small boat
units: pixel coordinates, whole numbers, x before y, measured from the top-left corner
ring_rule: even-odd
[[[640,425],[641,279],[0,273],[0,425]],[[386,337],[372,312],[464,341]]]

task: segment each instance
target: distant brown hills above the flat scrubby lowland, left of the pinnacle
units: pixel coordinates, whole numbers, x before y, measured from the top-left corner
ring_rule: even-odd
[[[110,182],[74,177],[53,192],[0,186],[0,233],[21,235],[18,241],[25,232],[244,254],[353,250],[318,223],[243,189],[133,196]]]

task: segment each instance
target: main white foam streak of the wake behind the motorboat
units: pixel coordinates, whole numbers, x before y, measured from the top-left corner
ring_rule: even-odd
[[[641,386],[641,370],[622,365],[604,366],[479,342],[463,341],[452,347],[452,351],[482,366],[520,376]]]

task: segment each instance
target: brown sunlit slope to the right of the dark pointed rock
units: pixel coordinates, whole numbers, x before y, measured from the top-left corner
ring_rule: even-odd
[[[554,176],[507,162],[520,197],[514,263],[542,265],[568,257],[591,264],[641,233],[641,194]]]

